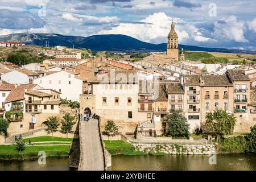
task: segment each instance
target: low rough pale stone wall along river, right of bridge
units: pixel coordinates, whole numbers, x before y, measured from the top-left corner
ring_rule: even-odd
[[[131,143],[137,151],[147,154],[161,152],[164,154],[180,155],[211,155],[215,154],[214,144],[143,144]]]

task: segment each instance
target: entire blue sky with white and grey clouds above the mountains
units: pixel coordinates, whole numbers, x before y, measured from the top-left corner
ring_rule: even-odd
[[[125,34],[167,42],[256,50],[254,0],[0,0],[0,35],[19,32],[90,36]]]

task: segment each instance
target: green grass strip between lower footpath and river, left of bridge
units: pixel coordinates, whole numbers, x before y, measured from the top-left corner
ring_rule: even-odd
[[[46,152],[46,156],[69,156],[70,146],[35,146],[26,147],[21,153],[15,150],[14,145],[1,145],[0,146],[0,160],[11,159],[34,159],[38,158],[38,152]]]

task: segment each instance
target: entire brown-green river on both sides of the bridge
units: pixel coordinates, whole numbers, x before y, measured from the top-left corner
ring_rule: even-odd
[[[119,155],[112,156],[109,170],[256,170],[256,155],[217,155],[216,165],[210,165],[209,158],[208,155]],[[0,170],[68,171],[69,158],[47,158],[46,165],[39,165],[38,160],[0,161]]]

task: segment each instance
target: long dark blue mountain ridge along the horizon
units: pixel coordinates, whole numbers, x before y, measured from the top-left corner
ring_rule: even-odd
[[[51,47],[65,46],[72,48],[89,48],[92,51],[139,51],[139,52],[162,52],[166,51],[167,44],[152,44],[142,42],[131,36],[122,34],[105,34],[72,36],[61,34],[33,34],[19,33],[0,36],[0,42],[23,42],[28,46],[46,46],[46,41],[49,41]],[[256,51],[226,49],[226,48],[208,48],[199,46],[187,46],[179,44],[179,48],[189,49],[191,51],[207,51],[207,52],[226,52],[226,53],[256,53]]]

